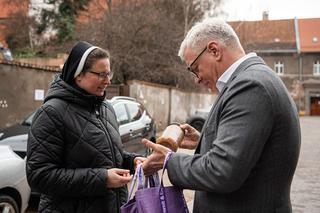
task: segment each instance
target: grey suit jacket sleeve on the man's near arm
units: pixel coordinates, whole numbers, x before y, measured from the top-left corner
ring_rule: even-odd
[[[274,122],[268,91],[258,82],[241,80],[220,104],[219,120],[214,121],[218,128],[208,125],[201,142],[211,148],[193,156],[174,153],[169,160],[168,175],[174,185],[229,193],[241,187],[258,161]],[[210,137],[214,131],[216,137]]]

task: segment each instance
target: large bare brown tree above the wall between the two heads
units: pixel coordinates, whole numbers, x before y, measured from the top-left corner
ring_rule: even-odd
[[[198,0],[106,0],[103,19],[77,29],[77,40],[110,50],[114,83],[138,79],[194,89],[177,52],[185,32],[205,14]],[[207,1],[206,9],[214,2]]]

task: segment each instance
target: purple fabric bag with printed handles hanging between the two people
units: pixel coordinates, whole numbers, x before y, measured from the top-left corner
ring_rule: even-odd
[[[121,206],[121,213],[188,213],[186,201],[182,190],[176,186],[163,186],[163,174],[167,168],[168,160],[172,152],[169,152],[163,164],[161,181],[158,173],[146,178],[143,183],[142,165],[138,165],[132,185],[130,187],[130,199],[135,182],[138,180],[138,190],[135,196]]]

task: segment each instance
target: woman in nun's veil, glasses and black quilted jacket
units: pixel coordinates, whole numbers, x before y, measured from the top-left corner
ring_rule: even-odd
[[[76,44],[32,122],[27,178],[41,193],[39,212],[119,212],[126,184],[144,158],[122,150],[105,89],[109,53]],[[130,171],[129,171],[129,170]]]

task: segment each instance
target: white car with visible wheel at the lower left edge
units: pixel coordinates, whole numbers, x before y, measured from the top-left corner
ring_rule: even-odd
[[[0,212],[22,213],[28,206],[30,188],[25,160],[10,146],[0,146]]]

